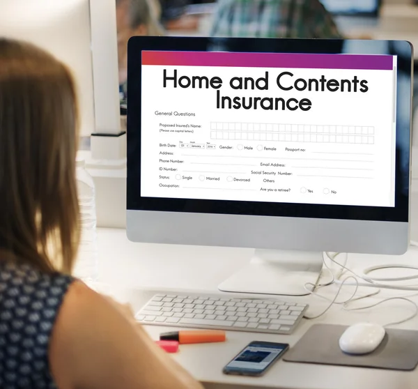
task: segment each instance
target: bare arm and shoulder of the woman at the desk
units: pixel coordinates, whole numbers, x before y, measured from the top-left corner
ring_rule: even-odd
[[[49,363],[62,389],[203,388],[132,316],[81,282],[57,316]]]

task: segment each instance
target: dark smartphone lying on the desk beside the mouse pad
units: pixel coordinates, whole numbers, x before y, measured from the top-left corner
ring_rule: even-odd
[[[289,348],[285,343],[251,342],[224,367],[224,374],[262,376]]]

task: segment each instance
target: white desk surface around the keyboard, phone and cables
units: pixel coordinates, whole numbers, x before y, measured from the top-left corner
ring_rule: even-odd
[[[138,309],[149,290],[189,291],[218,293],[217,284],[238,270],[251,257],[252,250],[221,247],[187,247],[173,245],[148,245],[127,240],[123,229],[99,229],[100,283],[107,286],[99,290],[114,296],[121,302],[129,302]],[[368,266],[376,263],[394,263],[418,266],[418,250],[412,249],[401,258],[385,256],[350,255],[350,267]],[[356,266],[357,265],[357,266]],[[146,289],[140,290],[140,289]],[[148,291],[147,291],[148,289]],[[345,287],[341,298],[347,297],[350,287]],[[336,286],[321,293],[334,297]],[[362,289],[367,292],[369,289]],[[382,291],[376,298],[369,298],[359,305],[370,305],[388,296],[412,296],[418,302],[418,293]],[[260,297],[260,296],[258,296]],[[321,298],[308,296],[286,298],[309,303],[310,314],[315,314],[327,306]],[[354,305],[353,305],[354,306]],[[196,379],[211,389],[251,388],[281,389],[416,389],[418,369],[414,372],[364,369],[355,367],[334,367],[286,363],[280,360],[259,378],[226,376],[222,367],[238,351],[253,340],[284,342],[294,346],[297,340],[313,323],[335,323],[349,325],[358,321],[388,323],[394,318],[403,318],[412,311],[412,305],[392,300],[371,310],[347,312],[336,305],[326,315],[314,321],[303,320],[293,335],[268,335],[229,331],[227,342],[220,344],[183,345],[180,352],[173,354]],[[396,328],[418,329],[418,318]],[[147,326],[150,335],[157,340],[158,335],[169,327]],[[418,333],[417,333],[418,335]],[[326,340],[324,340],[326,342]]]

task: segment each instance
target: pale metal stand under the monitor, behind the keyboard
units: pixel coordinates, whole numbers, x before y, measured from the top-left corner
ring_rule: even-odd
[[[259,250],[245,268],[218,289],[235,293],[307,296],[305,284],[315,284],[323,267],[320,252]]]

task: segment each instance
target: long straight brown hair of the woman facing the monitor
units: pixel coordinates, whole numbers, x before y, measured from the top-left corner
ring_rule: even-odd
[[[0,259],[71,272],[77,139],[68,69],[33,45],[0,38]]]

